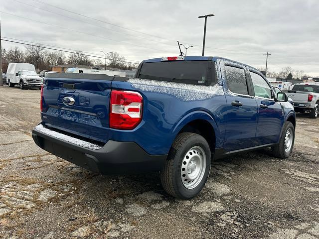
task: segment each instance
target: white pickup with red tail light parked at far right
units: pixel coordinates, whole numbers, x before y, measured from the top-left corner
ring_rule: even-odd
[[[295,84],[287,95],[293,100],[296,112],[310,113],[314,119],[319,116],[319,82]]]

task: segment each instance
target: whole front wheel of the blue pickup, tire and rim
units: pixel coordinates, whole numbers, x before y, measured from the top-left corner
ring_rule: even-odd
[[[279,143],[272,147],[275,157],[288,158],[293,151],[295,141],[295,127],[292,122],[286,121]]]

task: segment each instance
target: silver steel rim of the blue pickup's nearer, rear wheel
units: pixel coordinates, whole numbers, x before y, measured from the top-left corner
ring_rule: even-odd
[[[185,154],[180,177],[185,188],[193,189],[202,181],[206,169],[206,154],[200,146],[194,146]]]

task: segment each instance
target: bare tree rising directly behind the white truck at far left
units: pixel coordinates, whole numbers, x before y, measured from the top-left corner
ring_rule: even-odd
[[[41,44],[26,46],[25,61],[35,66],[35,69],[46,69],[47,52]]]

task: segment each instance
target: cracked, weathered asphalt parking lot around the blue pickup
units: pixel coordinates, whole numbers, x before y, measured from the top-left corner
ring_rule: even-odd
[[[0,238],[319,238],[319,119],[297,116],[292,156],[213,163],[201,194],[175,200],[159,174],[101,176],[31,137],[40,91],[0,88]]]

